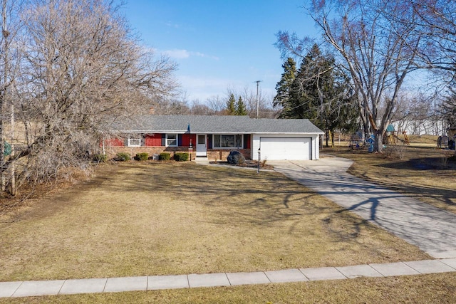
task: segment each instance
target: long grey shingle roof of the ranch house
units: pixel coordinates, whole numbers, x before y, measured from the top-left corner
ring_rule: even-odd
[[[114,122],[120,132],[185,133],[323,133],[306,119],[265,119],[248,116],[140,115]]]

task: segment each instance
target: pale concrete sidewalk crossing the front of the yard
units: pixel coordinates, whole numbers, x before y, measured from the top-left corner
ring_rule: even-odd
[[[295,268],[251,273],[207,273],[179,276],[88,278],[56,281],[0,282],[0,298],[136,290],[218,287],[267,283],[341,280],[358,277],[411,276],[456,271],[456,258],[344,267]]]

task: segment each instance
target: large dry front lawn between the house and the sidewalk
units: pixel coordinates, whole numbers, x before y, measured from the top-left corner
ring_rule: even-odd
[[[104,166],[0,224],[0,281],[269,271],[428,258],[276,172]]]

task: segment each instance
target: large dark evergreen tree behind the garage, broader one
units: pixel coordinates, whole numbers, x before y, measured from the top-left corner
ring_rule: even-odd
[[[281,100],[280,117],[307,118],[326,132],[351,131],[358,125],[353,101],[348,77],[336,69],[334,58],[324,56],[314,45],[303,58],[288,96]]]

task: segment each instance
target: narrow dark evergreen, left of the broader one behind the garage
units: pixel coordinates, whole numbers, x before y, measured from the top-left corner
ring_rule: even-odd
[[[284,73],[282,73],[281,80],[276,85],[277,94],[274,97],[272,105],[274,108],[281,107],[280,117],[287,117],[291,113],[291,103],[290,103],[290,92],[291,85],[296,78],[296,62],[293,58],[287,58],[285,63],[282,65],[284,68]]]

